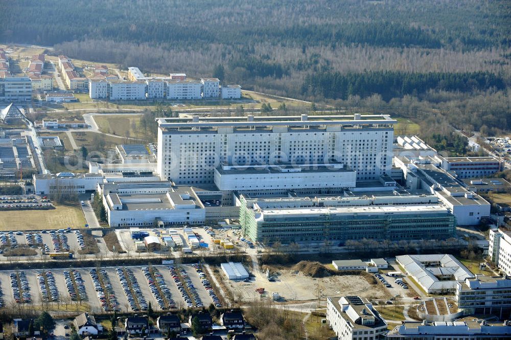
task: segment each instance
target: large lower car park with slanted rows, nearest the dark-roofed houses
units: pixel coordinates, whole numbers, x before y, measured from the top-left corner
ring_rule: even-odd
[[[204,286],[198,271],[192,265],[181,265],[180,267],[184,270],[183,273],[188,275],[190,282],[193,284],[193,290],[196,292],[196,298],[198,298],[198,300],[193,300],[193,307],[201,305],[205,307],[209,306],[214,302],[211,294],[217,299],[216,293],[214,291],[213,293],[210,292],[213,288],[206,288],[206,286]],[[118,269],[121,269],[128,281],[130,281],[128,273],[132,273],[132,277],[136,280],[138,290],[140,291],[140,294],[134,294],[137,289],[134,285],[135,281],[131,279],[129,292],[133,293],[133,297],[136,300],[135,308],[142,307],[140,301],[143,299],[147,304],[151,303],[154,310],[169,309],[170,306],[168,303],[165,304],[164,308],[161,308],[155,294],[151,291],[149,281],[144,276],[143,268],[156,269],[160,274],[158,293],[163,291],[161,288],[167,287],[168,293],[170,293],[170,297],[174,302],[172,307],[187,307],[183,294],[179,290],[179,285],[176,284],[172,278],[169,266],[165,265],[151,267],[127,266],[76,269],[30,269],[20,271],[3,270],[0,271],[0,288],[3,293],[0,298],[3,299],[3,303],[9,305],[12,303],[24,303],[22,300],[24,297],[27,297],[24,303],[27,307],[30,305],[40,305],[42,303],[61,305],[72,301],[81,301],[90,306],[91,312],[102,312],[104,311],[104,306],[98,298],[98,291],[89,273],[91,269],[95,269],[96,273],[100,273],[101,270],[104,270],[109,280],[113,296],[109,296],[109,293],[107,293],[105,300],[107,300],[107,302],[112,302],[114,299],[116,301],[115,305],[118,307],[119,311],[132,312],[134,311],[132,308],[133,304],[130,304],[123,283],[119,279]],[[11,279],[11,274],[14,279]],[[23,282],[24,278],[26,278],[26,282]],[[187,293],[191,295],[191,286],[188,287],[184,283],[185,278],[183,278],[183,276],[179,276],[179,279],[182,282],[182,286],[186,287],[185,290]],[[101,280],[101,282],[103,285],[101,285],[100,289],[103,289],[107,282],[104,280]],[[166,297],[168,298],[169,294],[167,294]],[[195,301],[200,301],[200,304]],[[219,302],[216,302],[216,304],[217,303]],[[145,309],[147,310],[147,306]]]

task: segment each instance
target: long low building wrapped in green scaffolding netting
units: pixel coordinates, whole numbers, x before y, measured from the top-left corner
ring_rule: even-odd
[[[392,199],[390,197],[389,199]],[[408,197],[410,199],[410,197]],[[361,199],[363,200],[363,199]],[[271,244],[343,244],[347,240],[448,239],[455,234],[455,217],[442,205],[429,203],[380,204],[351,199],[260,199],[240,196],[240,223],[244,235]],[[336,204],[334,204],[336,203]],[[362,203],[364,205],[353,205]]]

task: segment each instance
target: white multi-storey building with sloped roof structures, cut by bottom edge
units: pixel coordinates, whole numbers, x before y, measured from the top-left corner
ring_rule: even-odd
[[[365,298],[327,298],[327,322],[338,340],[377,340],[387,323]]]

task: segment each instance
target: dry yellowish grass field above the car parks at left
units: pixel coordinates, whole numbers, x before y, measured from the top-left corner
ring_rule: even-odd
[[[76,205],[57,205],[52,210],[11,210],[0,212],[0,230],[43,230],[84,228],[85,217]]]

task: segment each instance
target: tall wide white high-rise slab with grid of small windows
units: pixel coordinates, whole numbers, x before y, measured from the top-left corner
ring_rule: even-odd
[[[390,172],[389,116],[158,119],[158,172],[176,184],[213,184],[215,168],[324,163],[355,170],[357,180]]]

